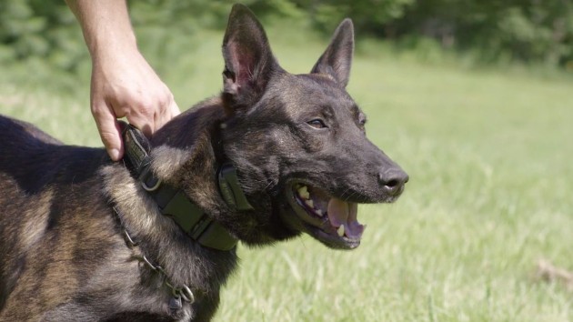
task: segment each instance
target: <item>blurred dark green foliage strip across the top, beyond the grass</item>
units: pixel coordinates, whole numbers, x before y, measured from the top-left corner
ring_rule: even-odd
[[[142,45],[197,28],[223,28],[232,1],[130,1]],[[573,65],[573,5],[569,0],[246,0],[263,18],[307,20],[331,32],[344,17],[357,32],[397,45],[434,39],[448,49],[476,53],[484,62]],[[271,20],[271,19],[267,19]],[[166,28],[169,25],[169,28]],[[0,2],[0,63],[42,59],[74,69],[87,52],[64,0]]]

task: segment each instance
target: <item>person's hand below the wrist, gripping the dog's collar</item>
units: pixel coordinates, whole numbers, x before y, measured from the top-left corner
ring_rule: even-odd
[[[126,117],[150,137],[180,113],[179,107],[136,49],[102,51],[92,61],[92,115],[107,153],[118,161],[124,156],[124,145],[117,118]]]

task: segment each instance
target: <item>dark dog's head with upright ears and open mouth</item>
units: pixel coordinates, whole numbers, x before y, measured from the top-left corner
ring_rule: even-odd
[[[306,232],[357,247],[357,204],[393,202],[404,190],[407,174],[367,139],[367,118],[345,89],[353,50],[346,19],[310,74],[292,75],[245,6],[229,16],[221,144],[270,239]]]

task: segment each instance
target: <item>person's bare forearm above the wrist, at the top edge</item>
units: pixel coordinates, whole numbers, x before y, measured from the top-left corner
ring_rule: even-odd
[[[136,50],[136,36],[125,0],[65,0],[82,26],[85,44],[95,58],[118,50]]]

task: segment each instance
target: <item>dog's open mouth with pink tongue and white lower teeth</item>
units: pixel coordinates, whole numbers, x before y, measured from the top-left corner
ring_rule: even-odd
[[[357,220],[357,203],[337,199],[316,186],[302,183],[290,186],[287,196],[309,235],[333,248],[351,249],[360,245],[365,226]]]

